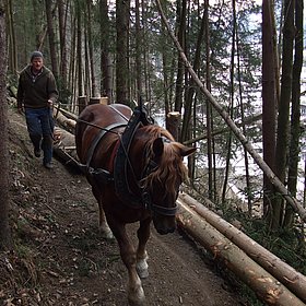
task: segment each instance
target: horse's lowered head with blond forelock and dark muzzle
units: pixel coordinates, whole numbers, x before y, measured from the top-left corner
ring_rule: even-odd
[[[187,179],[183,162],[196,149],[175,142],[169,132],[156,126],[145,127],[150,139],[144,145],[140,186],[143,201],[152,211],[160,234],[175,231],[176,199],[180,184]]]

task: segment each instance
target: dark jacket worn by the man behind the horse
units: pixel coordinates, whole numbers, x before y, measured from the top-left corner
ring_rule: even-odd
[[[28,64],[20,74],[17,89],[17,107],[22,105],[30,108],[43,108],[48,106],[48,99],[54,103],[58,98],[58,90],[54,73],[46,68],[34,76]]]

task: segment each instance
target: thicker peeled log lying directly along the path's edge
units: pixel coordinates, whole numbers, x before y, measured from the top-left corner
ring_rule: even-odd
[[[180,211],[177,214],[178,224],[189,233],[198,243],[210,250],[215,258],[246,283],[257,296],[268,305],[305,306],[282,283],[256,263],[229,239],[216,231],[197,212],[191,210],[180,199]]]

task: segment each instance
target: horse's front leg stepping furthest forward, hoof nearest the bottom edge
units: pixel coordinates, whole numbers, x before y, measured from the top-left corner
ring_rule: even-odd
[[[126,232],[125,224],[118,224],[114,220],[108,220],[108,224],[118,242],[122,262],[126,264],[128,269],[129,305],[142,306],[144,305],[145,296],[142,289],[141,280],[136,269],[136,264],[137,264],[136,249]]]

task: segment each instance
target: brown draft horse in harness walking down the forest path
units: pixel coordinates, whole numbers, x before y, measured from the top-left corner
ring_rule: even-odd
[[[131,109],[120,104],[87,106],[76,123],[75,144],[98,202],[102,234],[106,238],[115,235],[128,269],[129,305],[143,305],[140,279],[149,275],[145,245],[150,223],[153,220],[160,234],[175,231],[178,188],[187,177],[183,157],[195,149],[175,142],[167,130],[142,122],[130,131],[130,140],[125,144],[122,134],[130,128],[131,116]],[[116,165],[120,146],[123,158]],[[122,190],[120,184],[116,186],[117,179],[122,180]],[[138,221],[139,243],[134,249],[126,224]]]

